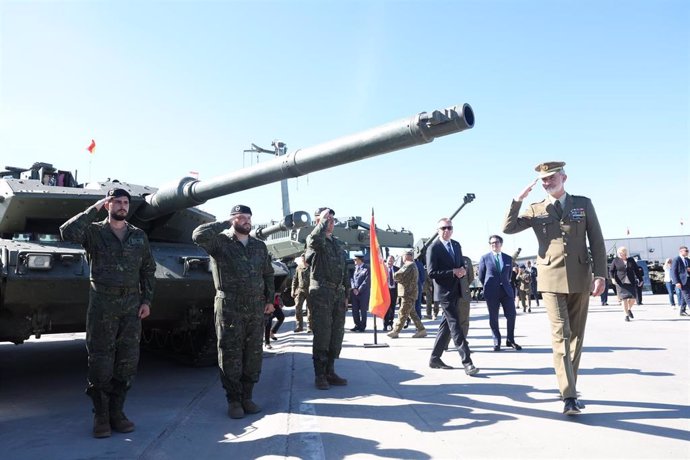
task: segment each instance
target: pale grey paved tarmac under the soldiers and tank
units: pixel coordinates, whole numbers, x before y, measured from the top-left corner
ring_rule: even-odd
[[[263,412],[241,420],[215,368],[144,352],[126,406],[137,429],[107,439],[91,437],[83,334],[0,344],[0,459],[690,458],[690,318],[665,295],[633,311],[626,323],[592,301],[577,417],[561,414],[543,307],[518,315],[522,351],[494,352],[486,306],[472,305],[476,377],[456,352],[443,359],[457,369],[428,367],[439,321],[427,338],[411,326],[365,348],[370,318],[370,332],[345,335],[336,368],[349,385],[329,391],[314,388],[311,336],[289,317],[255,390]]]

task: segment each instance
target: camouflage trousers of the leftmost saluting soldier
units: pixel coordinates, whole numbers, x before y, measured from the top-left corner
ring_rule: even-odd
[[[89,291],[86,312],[88,352],[87,393],[124,394],[132,385],[139,363],[140,297]]]

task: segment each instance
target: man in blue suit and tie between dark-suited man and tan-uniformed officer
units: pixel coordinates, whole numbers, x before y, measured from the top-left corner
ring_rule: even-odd
[[[479,260],[479,281],[484,286],[484,299],[489,308],[489,326],[494,337],[494,351],[501,351],[501,331],[498,329],[498,307],[503,307],[503,316],[508,321],[506,346],[516,350],[522,347],[515,343],[515,293],[510,285],[513,259],[501,252],[503,238],[489,237],[491,252]]]

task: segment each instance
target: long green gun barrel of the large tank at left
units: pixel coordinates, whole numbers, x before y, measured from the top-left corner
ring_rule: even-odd
[[[136,217],[143,221],[156,219],[180,209],[200,205],[211,198],[426,144],[437,137],[459,133],[473,126],[474,112],[469,104],[434,110],[431,113],[422,112],[410,118],[297,150],[208,181],[183,178],[148,196],[146,204],[136,210]]]

